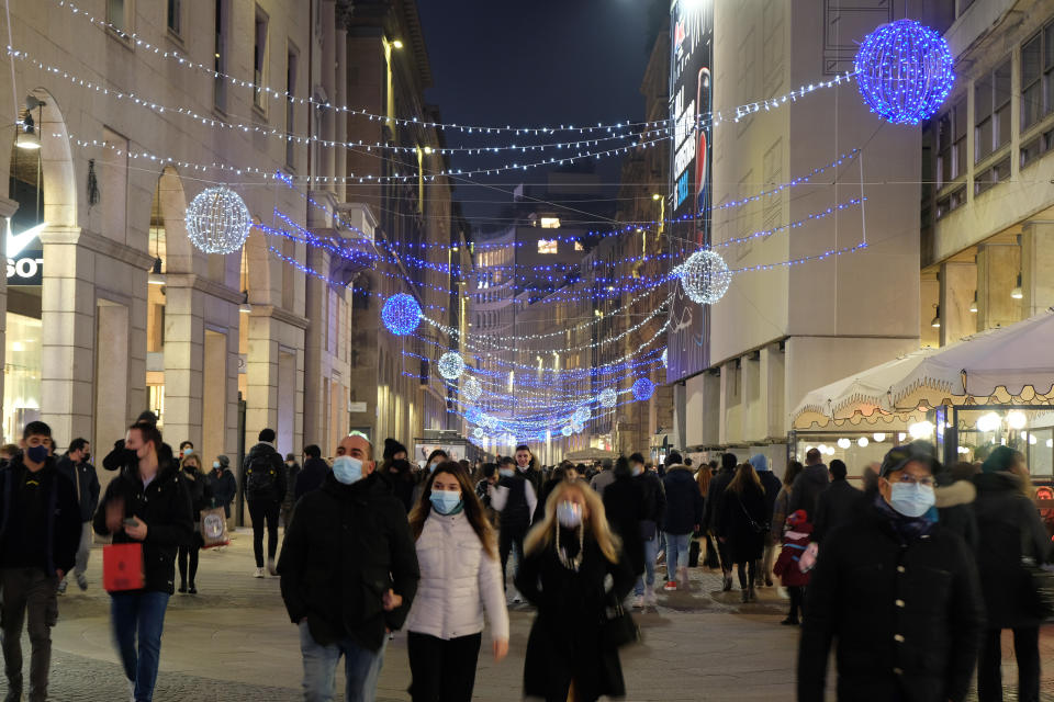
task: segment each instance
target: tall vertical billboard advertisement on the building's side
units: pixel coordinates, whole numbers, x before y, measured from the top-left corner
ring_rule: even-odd
[[[674,0],[670,9],[670,189],[666,231],[671,260],[684,261],[710,241],[710,110],[714,2]],[[666,338],[666,380],[695,375],[709,365],[709,310],[684,296],[677,281]]]

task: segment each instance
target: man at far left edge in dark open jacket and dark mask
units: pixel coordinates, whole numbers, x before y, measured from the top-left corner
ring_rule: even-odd
[[[8,700],[22,697],[22,625],[29,613],[30,700],[47,699],[58,582],[74,567],[80,506],[55,467],[52,429],[31,421],[22,452],[0,473],[0,623]]]

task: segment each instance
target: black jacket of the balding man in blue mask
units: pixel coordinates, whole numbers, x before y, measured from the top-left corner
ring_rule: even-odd
[[[343,485],[332,473],[296,503],[278,571],[290,620],[306,618],[316,643],[350,636],[369,650],[385,627],[403,625],[421,578],[406,510],[388,483],[370,475]],[[389,589],[403,603],[385,612]]]

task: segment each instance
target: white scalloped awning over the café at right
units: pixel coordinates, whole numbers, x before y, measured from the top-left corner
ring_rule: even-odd
[[[1054,399],[1054,310],[943,349],[921,349],[807,394],[792,414],[806,429],[831,420],[890,421],[922,407]]]

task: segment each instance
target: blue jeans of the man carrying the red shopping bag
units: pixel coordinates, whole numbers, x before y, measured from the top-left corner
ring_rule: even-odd
[[[110,596],[113,638],[124,665],[124,675],[135,683],[135,702],[150,702],[154,699],[168,598],[168,592],[143,590]]]

